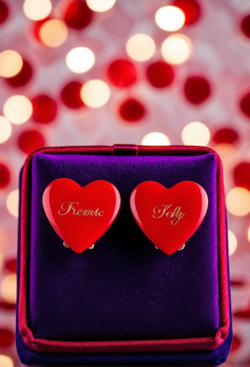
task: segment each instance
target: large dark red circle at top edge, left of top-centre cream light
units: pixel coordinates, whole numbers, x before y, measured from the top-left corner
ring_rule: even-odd
[[[73,0],[67,4],[63,19],[70,28],[83,29],[91,22],[92,11],[85,1]]]

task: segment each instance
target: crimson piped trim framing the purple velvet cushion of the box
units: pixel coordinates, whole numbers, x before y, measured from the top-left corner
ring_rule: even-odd
[[[120,148],[120,146],[119,146]],[[122,146],[124,148],[124,145]],[[18,304],[18,327],[25,344],[37,352],[51,353],[112,353],[112,352],[184,352],[188,350],[213,350],[218,348],[229,333],[229,290],[227,273],[227,233],[225,218],[225,195],[223,170],[220,157],[214,150],[199,146],[136,146],[137,155],[203,155],[214,153],[217,159],[218,189],[218,261],[220,290],[220,328],[215,336],[186,339],[135,340],[135,341],[54,341],[34,338],[27,326],[29,285],[29,241],[30,241],[30,184],[31,163],[36,153],[48,154],[96,154],[112,155],[111,146],[42,148],[31,153],[23,166],[21,202],[21,255]],[[133,149],[134,146],[133,146]],[[131,145],[128,145],[131,150]]]

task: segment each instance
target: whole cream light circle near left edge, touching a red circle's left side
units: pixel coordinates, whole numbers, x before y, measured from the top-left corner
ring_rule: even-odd
[[[24,95],[12,95],[4,103],[4,116],[13,124],[23,124],[32,115],[32,104]]]

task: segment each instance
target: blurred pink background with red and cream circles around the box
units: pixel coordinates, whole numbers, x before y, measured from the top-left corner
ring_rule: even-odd
[[[204,145],[224,166],[234,341],[250,366],[250,2],[0,0],[0,367],[15,351],[18,176],[43,146]]]

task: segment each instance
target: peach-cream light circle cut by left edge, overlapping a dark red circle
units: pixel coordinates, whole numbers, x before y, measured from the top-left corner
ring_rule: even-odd
[[[23,59],[14,50],[5,50],[0,53],[0,76],[11,78],[19,73],[23,66]]]

